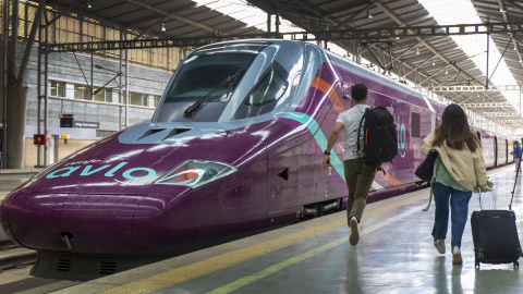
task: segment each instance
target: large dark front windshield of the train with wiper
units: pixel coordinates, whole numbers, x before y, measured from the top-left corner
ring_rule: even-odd
[[[195,54],[167,90],[158,122],[216,122],[256,54]]]

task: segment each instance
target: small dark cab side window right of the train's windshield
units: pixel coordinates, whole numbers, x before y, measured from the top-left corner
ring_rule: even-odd
[[[256,89],[248,95],[245,105],[263,106],[279,100],[287,89],[287,81],[275,69],[270,69]]]

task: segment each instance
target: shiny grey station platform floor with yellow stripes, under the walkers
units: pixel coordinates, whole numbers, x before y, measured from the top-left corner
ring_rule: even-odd
[[[497,209],[508,209],[513,166],[488,174]],[[522,180],[512,204],[520,236]],[[349,244],[341,211],[53,293],[521,293],[523,274],[512,264],[475,268],[470,218],[462,266],[452,265],[450,224],[447,253],[434,248],[434,204],[422,211],[428,194],[425,188],[367,205],[357,246]],[[482,196],[484,209],[491,209],[491,194]]]

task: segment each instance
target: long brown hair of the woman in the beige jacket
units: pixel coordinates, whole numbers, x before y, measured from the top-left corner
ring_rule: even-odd
[[[466,114],[459,105],[449,105],[443,110],[441,125],[436,131],[433,146],[442,146],[443,142],[457,150],[466,146],[474,152],[479,147],[479,142],[466,121]]]

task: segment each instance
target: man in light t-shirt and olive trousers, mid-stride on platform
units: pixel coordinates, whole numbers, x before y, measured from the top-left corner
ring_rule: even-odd
[[[329,142],[324,156],[324,169],[330,166],[328,162],[330,151],[335,146],[341,130],[344,131],[345,147],[343,152],[343,170],[345,174],[346,187],[349,188],[349,198],[346,200],[346,220],[351,234],[349,242],[352,246],[360,242],[360,230],[363,210],[367,205],[367,196],[376,175],[376,164],[367,163],[357,155],[357,128],[365,109],[369,108],[367,102],[367,86],[365,84],[355,84],[351,88],[353,107],[338,117],[336,124],[329,135]],[[363,136],[360,138],[363,146]]]

